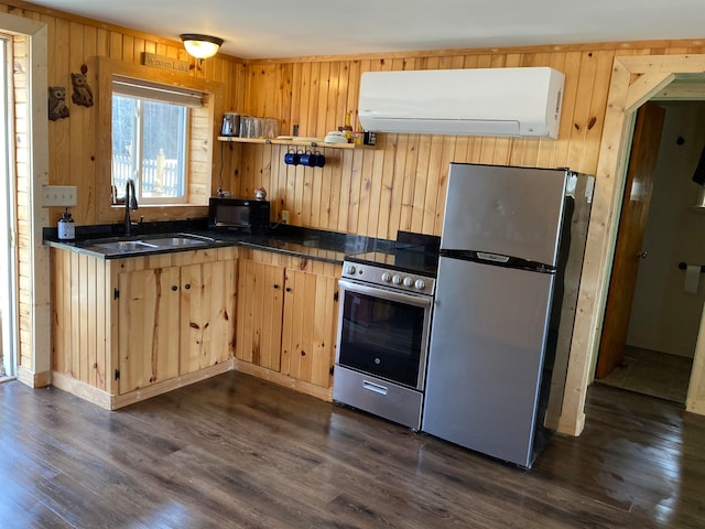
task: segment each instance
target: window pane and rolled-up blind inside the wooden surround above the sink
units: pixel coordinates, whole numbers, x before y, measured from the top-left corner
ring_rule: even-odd
[[[112,197],[128,179],[140,204],[187,201],[188,130],[203,94],[141,79],[112,79]]]

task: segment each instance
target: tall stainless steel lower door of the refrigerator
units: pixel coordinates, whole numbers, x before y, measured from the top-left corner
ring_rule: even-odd
[[[553,279],[441,258],[423,431],[531,466]]]

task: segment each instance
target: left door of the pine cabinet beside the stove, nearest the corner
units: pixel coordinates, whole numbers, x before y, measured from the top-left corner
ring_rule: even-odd
[[[283,291],[283,267],[239,260],[238,359],[280,370]]]

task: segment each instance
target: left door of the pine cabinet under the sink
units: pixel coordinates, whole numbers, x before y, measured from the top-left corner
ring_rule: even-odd
[[[178,375],[178,268],[118,274],[120,395]]]

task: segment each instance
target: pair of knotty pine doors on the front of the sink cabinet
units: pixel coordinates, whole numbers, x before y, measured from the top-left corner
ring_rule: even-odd
[[[231,356],[235,267],[229,260],[118,274],[120,395]]]

